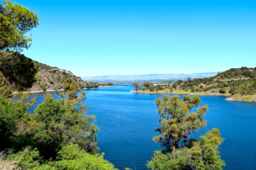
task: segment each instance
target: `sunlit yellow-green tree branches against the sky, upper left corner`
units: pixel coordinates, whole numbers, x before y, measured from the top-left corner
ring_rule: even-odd
[[[38,16],[27,8],[2,1],[0,5],[0,51],[29,48],[30,36],[26,33],[38,25]]]

